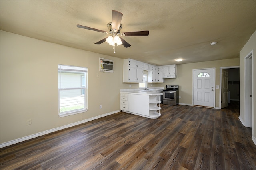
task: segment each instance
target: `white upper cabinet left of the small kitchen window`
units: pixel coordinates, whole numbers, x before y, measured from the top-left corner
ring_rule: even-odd
[[[142,83],[143,82],[143,63],[124,59],[123,82],[124,83]]]

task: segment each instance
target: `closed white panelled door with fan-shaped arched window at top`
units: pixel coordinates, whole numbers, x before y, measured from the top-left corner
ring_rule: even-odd
[[[193,70],[193,105],[214,107],[215,69]]]

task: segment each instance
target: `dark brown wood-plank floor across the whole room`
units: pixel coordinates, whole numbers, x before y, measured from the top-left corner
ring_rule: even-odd
[[[148,119],[116,113],[1,149],[1,170],[256,170],[251,128],[225,109],[161,105]]]

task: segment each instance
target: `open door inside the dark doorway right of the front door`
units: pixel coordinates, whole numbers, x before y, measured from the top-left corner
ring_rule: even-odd
[[[221,108],[228,106],[228,69],[222,69]]]

